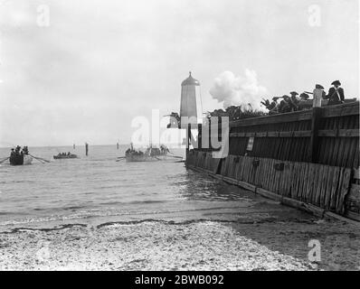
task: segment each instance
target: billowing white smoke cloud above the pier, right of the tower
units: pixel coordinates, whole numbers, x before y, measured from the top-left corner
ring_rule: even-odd
[[[223,107],[242,106],[261,109],[261,98],[267,89],[259,84],[254,70],[245,70],[244,76],[235,76],[232,71],[224,71],[213,80],[210,94],[223,102]]]

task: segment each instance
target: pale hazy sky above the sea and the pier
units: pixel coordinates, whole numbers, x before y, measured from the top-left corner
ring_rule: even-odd
[[[128,144],[190,70],[208,111],[223,75],[358,98],[358,68],[357,0],[0,0],[0,146]]]

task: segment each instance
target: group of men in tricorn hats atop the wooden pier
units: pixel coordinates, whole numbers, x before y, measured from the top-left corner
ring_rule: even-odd
[[[284,95],[282,97],[272,98],[272,102],[269,99],[263,99],[261,104],[269,109],[269,114],[277,114],[277,113],[286,113],[301,110],[302,107],[299,106],[300,101],[306,101],[309,98],[309,94],[314,96],[313,101],[317,101],[316,98],[327,99],[327,106],[334,106],[338,104],[342,104],[345,101],[344,89],[340,88],[341,82],[339,80],[335,80],[331,83],[333,86],[328,90],[328,93],[324,91],[324,87],[317,84],[313,92],[304,91],[300,95],[298,92],[291,91],[290,97],[288,95]],[[280,102],[278,102],[279,98],[282,98]]]

